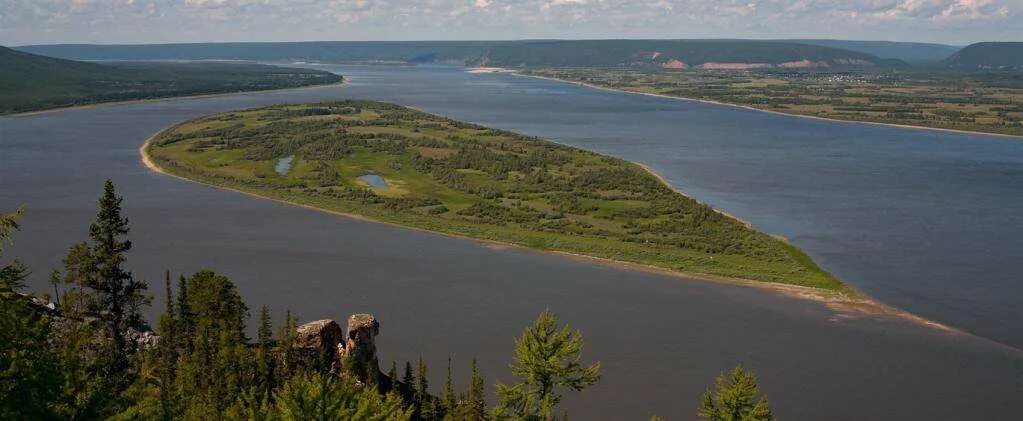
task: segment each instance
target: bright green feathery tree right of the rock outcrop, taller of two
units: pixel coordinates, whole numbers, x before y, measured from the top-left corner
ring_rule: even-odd
[[[496,414],[531,420],[554,419],[561,389],[581,391],[601,379],[601,363],[582,365],[582,334],[545,310],[516,339],[516,358],[509,366],[519,378],[513,385],[497,383]]]

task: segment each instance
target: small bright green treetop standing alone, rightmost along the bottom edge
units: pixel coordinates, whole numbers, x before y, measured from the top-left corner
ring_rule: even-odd
[[[767,397],[757,399],[758,395],[760,386],[756,374],[739,365],[717,377],[715,390],[704,393],[698,415],[711,421],[773,420]]]

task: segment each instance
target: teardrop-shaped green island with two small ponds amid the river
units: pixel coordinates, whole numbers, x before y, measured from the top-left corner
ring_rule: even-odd
[[[688,274],[851,292],[642,167],[373,101],[188,121],[143,147],[182,178],[385,223]]]

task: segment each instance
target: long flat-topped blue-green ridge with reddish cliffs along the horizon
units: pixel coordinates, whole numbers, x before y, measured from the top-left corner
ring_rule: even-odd
[[[470,65],[572,66],[877,66],[900,64],[818,45],[745,40],[298,42],[159,45],[35,45],[36,54],[73,59],[237,59],[321,62],[449,62]],[[721,64],[724,63],[724,64]]]

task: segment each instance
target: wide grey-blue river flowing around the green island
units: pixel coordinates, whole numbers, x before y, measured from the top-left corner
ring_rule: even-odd
[[[549,308],[604,364],[581,419],[691,418],[714,376],[757,371],[783,419],[985,419],[1023,399],[1023,141],[813,121],[455,67],[333,66],[323,87],[0,118],[5,249],[32,288],[85,239],[102,180],[125,195],[139,277],[209,267],[254,308],[372,313],[382,365],[420,354],[433,384],[478,358],[509,380],[513,338]],[[788,237],[865,293],[972,332],[837,311],[758,288],[411,231],[153,174],[138,147],[176,122],[280,102],[370,98],[643,162]],[[158,303],[162,296],[158,294]],[[985,339],[986,338],[986,339]],[[1011,346],[1000,345],[995,342]],[[1016,348],[1013,348],[1015,346]]]

